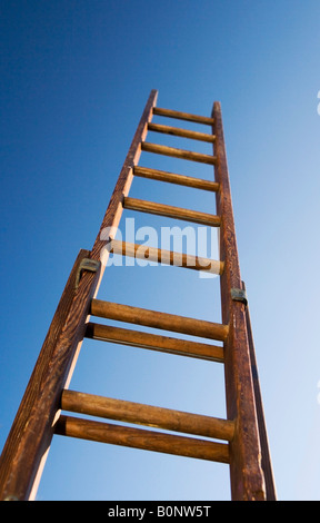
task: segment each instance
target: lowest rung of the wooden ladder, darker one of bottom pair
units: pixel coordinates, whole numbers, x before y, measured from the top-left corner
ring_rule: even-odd
[[[54,426],[56,434],[100,443],[162,452],[198,460],[230,463],[229,444],[194,437],[176,436],[156,431],[131,428],[91,420],[61,415]]]

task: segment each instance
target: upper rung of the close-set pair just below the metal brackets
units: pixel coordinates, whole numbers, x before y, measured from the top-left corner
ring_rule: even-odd
[[[144,325],[147,327],[171,330],[174,333],[190,334],[209,339],[224,342],[228,337],[229,326],[194,319],[186,316],[176,316],[174,314],[159,313],[130,305],[120,305],[101,299],[91,300],[92,316],[101,318],[116,319],[119,322]]]

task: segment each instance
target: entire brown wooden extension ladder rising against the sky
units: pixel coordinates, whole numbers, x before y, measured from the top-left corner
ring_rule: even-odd
[[[158,91],[152,90],[92,250],[80,250],[64,287],[2,451],[1,500],[36,497],[54,434],[222,462],[230,465],[232,500],[276,500],[249,308],[239,269],[220,103],[214,102],[208,118],[157,108],[157,97]],[[212,128],[212,134],[152,124],[153,115],[204,124]],[[213,156],[147,142],[148,131],[212,142]],[[214,181],[140,167],[141,151],[212,165]],[[217,199],[217,216],[130,198],[133,177],[212,191]],[[180,266],[186,268],[206,268],[220,275],[221,324],[97,299],[106,269],[103,256],[110,251],[146,256],[139,245],[114,239],[123,208],[220,227],[220,260],[187,255],[179,259]],[[172,251],[150,247],[148,256],[174,265]],[[90,316],[216,339],[223,345],[99,325],[90,322]],[[227,420],[68,389],[84,337],[223,363]],[[61,414],[61,411],[144,424],[189,436],[108,424]]]

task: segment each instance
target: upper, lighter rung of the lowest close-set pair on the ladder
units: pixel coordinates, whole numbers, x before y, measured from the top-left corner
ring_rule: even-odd
[[[61,409],[167,431],[232,441],[234,422],[64,389]]]

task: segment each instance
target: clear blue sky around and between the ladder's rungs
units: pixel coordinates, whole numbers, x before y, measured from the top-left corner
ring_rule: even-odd
[[[159,107],[204,116],[221,101],[278,496],[320,500],[319,19],[317,0],[2,2],[0,447],[73,260],[93,245],[149,92],[158,89]],[[142,155],[141,165],[148,161]],[[196,165],[179,170],[213,176]],[[134,180],[130,196],[214,210],[196,193]],[[137,227],[156,224],[134,218]],[[166,267],[108,270],[103,299],[219,315],[218,278]],[[217,364],[86,342],[78,365],[71,388],[224,413]],[[224,465],[60,436],[38,493],[229,496]]]

